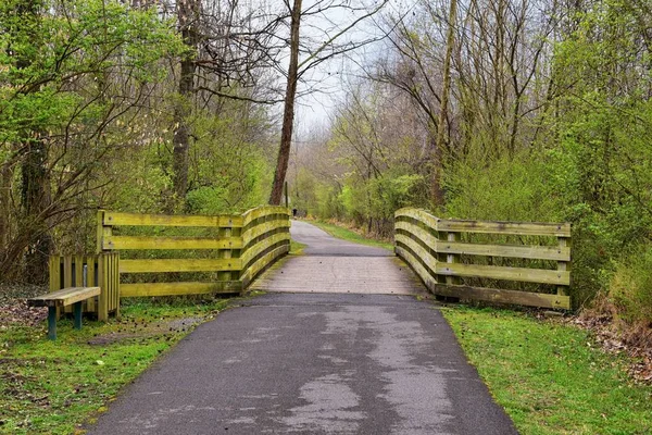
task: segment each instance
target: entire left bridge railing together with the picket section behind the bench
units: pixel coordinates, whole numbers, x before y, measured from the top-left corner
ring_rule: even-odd
[[[97,300],[84,303],[100,320],[118,312],[120,298],[240,293],[289,251],[289,228],[290,213],[281,207],[215,216],[100,210],[98,254],[52,256],[50,290],[101,287]],[[178,279],[185,273],[204,279]]]

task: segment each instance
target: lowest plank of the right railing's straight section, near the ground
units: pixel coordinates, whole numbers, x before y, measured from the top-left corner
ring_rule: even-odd
[[[461,299],[484,300],[494,303],[513,303],[539,308],[570,309],[570,298],[561,295],[443,284],[436,284],[430,290],[435,295],[452,296]]]

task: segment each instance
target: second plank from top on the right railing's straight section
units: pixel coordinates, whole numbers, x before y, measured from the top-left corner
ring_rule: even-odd
[[[451,233],[454,234],[454,233]],[[570,249],[560,246],[477,245],[439,240],[437,252],[466,253],[469,256],[509,257],[532,260],[570,260]]]

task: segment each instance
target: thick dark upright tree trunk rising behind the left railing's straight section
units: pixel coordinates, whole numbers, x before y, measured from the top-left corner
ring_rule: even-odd
[[[195,55],[199,44],[199,11],[198,0],[179,0],[177,3],[177,18],[184,44],[190,52],[185,53],[180,62],[179,101],[174,109],[174,137],[173,144],[173,185],[176,200],[183,202],[188,192],[188,151],[190,147],[190,114],[191,97],[195,87]]]

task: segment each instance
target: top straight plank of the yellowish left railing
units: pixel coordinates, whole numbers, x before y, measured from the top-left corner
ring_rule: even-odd
[[[220,214],[214,216],[139,214],[104,211],[103,224],[106,226],[242,226],[242,216]]]

